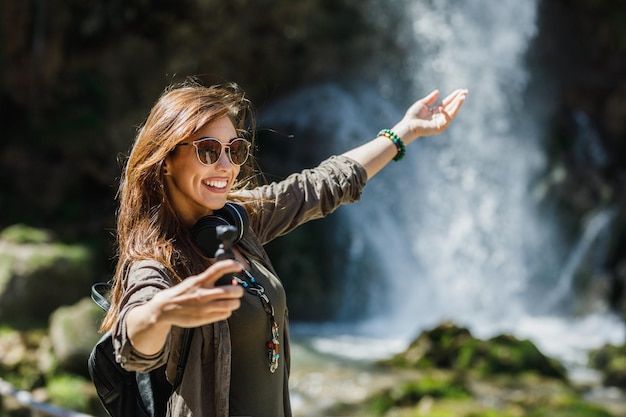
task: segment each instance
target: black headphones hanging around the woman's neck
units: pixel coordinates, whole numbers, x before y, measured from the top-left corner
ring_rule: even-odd
[[[243,206],[226,203],[221,209],[196,222],[191,229],[191,240],[204,256],[213,258],[221,243],[217,238],[217,226],[235,226],[237,237],[234,243],[237,243],[245,236],[249,222],[248,212]]]

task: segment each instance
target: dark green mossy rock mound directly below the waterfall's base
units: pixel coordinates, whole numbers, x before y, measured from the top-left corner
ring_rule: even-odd
[[[536,373],[564,379],[565,368],[543,355],[528,340],[500,335],[490,340],[474,338],[468,329],[445,322],[423,332],[406,351],[383,361],[383,365],[403,368],[441,368],[493,374]]]

